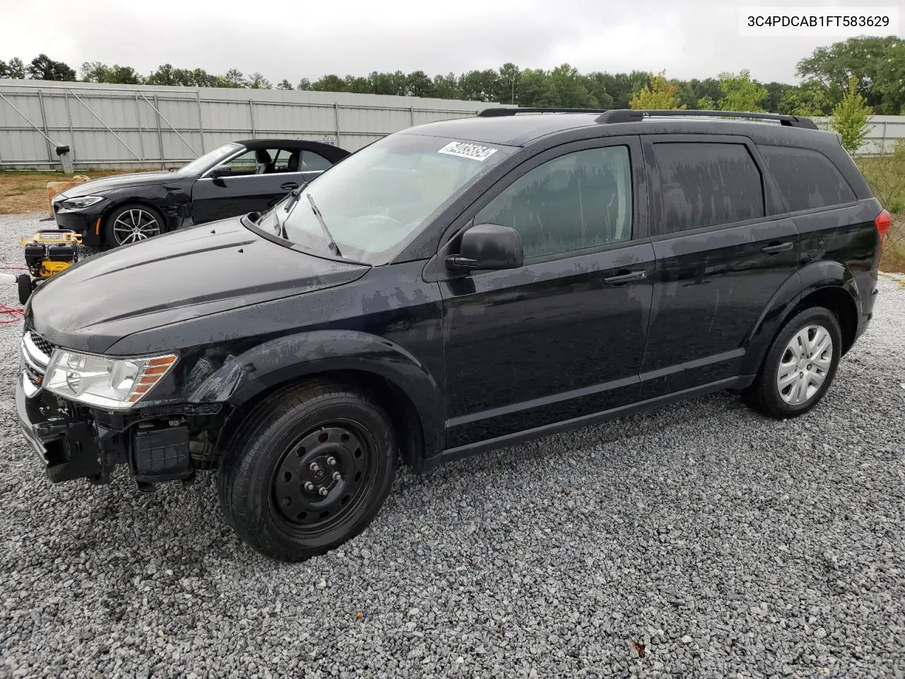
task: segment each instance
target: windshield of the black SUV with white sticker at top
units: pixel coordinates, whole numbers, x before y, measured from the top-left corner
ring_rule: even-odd
[[[284,198],[259,225],[323,254],[335,253],[329,230],[342,256],[386,263],[438,207],[511,150],[483,142],[390,135]]]

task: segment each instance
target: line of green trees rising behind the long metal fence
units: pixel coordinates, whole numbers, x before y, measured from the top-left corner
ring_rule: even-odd
[[[424,71],[405,74],[370,72],[367,75],[329,73],[317,80],[303,78],[298,90],[345,91],[361,94],[388,94],[439,99],[499,101],[525,107],[721,109],[771,110],[797,115],[826,115],[846,96],[849,81],[858,74],[857,91],[875,113],[905,115],[905,40],[852,38],[814,50],[798,62],[797,72],[805,76],[800,85],[782,82],[766,84],[751,80],[748,71],[722,73],[719,80],[667,81],[664,74],[642,71],[628,73],[580,73],[569,64],[550,71],[521,69],[506,62],[499,69],[484,69],[461,74],[436,74]],[[0,78],[47,78],[75,80],[75,72],[63,62],[54,62],[40,54],[26,67],[21,59],[0,61]],[[222,75],[204,69],[179,69],[165,63],[147,77],[129,66],[102,62],[84,62],[81,81],[111,83],[147,83],[188,87],[270,88],[261,73],[244,76],[237,69]],[[282,80],[278,89],[290,90]]]

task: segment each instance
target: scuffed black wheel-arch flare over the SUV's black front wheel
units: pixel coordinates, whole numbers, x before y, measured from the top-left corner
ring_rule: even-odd
[[[227,359],[187,400],[242,406],[281,383],[338,370],[370,373],[400,388],[421,421],[425,456],[443,449],[443,398],[433,375],[395,342],[357,330],[314,330],[263,342]]]

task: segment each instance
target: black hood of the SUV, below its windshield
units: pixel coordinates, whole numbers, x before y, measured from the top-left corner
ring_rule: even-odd
[[[272,243],[234,218],[82,260],[32,293],[25,320],[53,344],[102,353],[134,332],[341,285],[369,270]]]

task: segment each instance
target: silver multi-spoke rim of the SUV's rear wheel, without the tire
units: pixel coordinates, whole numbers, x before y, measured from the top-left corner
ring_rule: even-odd
[[[819,324],[806,325],[786,345],[776,369],[776,390],[790,406],[807,403],[820,391],[833,365],[833,338]]]

